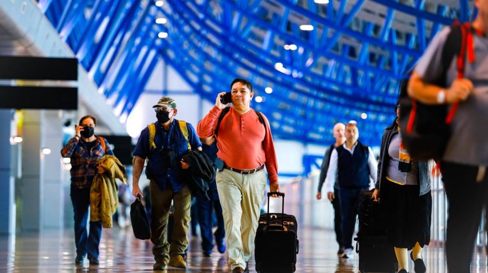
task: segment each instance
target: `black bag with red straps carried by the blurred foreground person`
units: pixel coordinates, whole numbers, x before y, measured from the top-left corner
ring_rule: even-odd
[[[447,68],[457,55],[457,75],[463,78],[468,36],[471,34],[468,23],[455,22],[447,36],[442,52],[444,71],[440,79],[434,81],[438,86],[447,88]],[[472,38],[472,37],[471,37]],[[407,80],[400,85],[400,132],[402,143],[413,159],[442,159],[447,142],[451,136],[452,118],[459,103],[448,105],[423,104],[407,95]]]

